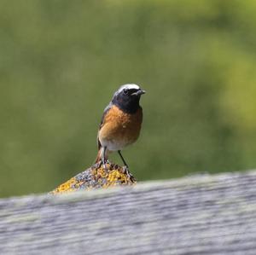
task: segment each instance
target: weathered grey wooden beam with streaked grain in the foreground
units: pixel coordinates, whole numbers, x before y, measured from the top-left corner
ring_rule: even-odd
[[[256,172],[0,200],[0,254],[256,254]]]

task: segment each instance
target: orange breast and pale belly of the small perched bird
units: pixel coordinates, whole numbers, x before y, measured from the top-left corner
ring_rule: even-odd
[[[108,147],[108,144],[111,143],[117,147],[114,150],[121,149],[137,140],[142,122],[143,110],[141,107],[137,113],[130,114],[113,106],[106,114],[102,128],[99,130],[99,140],[103,146],[105,143]],[[112,148],[109,149],[112,150]]]

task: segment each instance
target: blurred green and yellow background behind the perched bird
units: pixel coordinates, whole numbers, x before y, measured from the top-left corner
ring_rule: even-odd
[[[254,0],[2,0],[0,195],[47,192],[90,166],[125,83],[148,92],[123,152],[139,181],[255,167],[255,11]]]

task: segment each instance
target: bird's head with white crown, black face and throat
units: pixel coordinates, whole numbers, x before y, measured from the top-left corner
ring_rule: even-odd
[[[117,90],[112,99],[112,103],[125,113],[136,113],[140,98],[146,91],[142,90],[137,84],[125,84]]]

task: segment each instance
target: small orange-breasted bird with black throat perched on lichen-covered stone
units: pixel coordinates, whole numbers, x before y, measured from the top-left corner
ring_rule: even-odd
[[[146,91],[137,84],[124,84],[113,94],[104,109],[97,134],[98,154],[96,164],[107,170],[108,154],[118,152],[125,168],[129,169],[121,150],[137,141],[143,123],[140,99]]]

